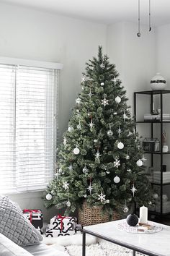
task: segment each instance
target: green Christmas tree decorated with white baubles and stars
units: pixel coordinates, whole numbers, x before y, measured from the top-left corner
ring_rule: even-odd
[[[45,205],[66,208],[66,214],[89,205],[127,213],[130,204],[148,205],[150,186],[143,149],[130,117],[128,98],[99,46],[98,58],[86,63],[68,130],[58,149],[55,178]]]

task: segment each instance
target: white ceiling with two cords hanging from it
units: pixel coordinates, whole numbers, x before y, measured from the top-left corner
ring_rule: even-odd
[[[68,17],[112,24],[138,22],[138,0],[0,0],[6,4],[20,5]],[[140,0],[142,24],[148,24],[149,0]],[[153,27],[170,23],[170,0],[151,0]]]

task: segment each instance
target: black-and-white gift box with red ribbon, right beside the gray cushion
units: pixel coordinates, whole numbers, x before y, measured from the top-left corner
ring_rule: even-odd
[[[43,216],[41,210],[36,209],[24,209],[22,210],[24,216],[35,226],[37,231],[40,231],[40,234],[43,234]]]

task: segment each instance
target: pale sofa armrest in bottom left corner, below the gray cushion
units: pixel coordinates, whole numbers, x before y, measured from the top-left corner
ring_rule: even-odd
[[[32,256],[26,249],[12,242],[0,233],[0,255],[1,256]]]

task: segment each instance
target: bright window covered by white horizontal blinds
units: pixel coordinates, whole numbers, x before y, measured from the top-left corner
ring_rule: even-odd
[[[0,193],[45,189],[53,178],[61,67],[37,66],[0,64]]]

